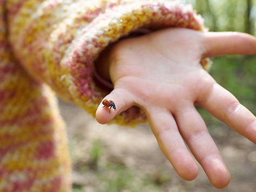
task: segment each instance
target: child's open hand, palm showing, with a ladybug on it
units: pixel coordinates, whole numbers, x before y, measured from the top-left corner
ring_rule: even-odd
[[[226,187],[230,173],[194,105],[254,143],[256,118],[216,83],[200,60],[221,54],[255,54],[256,39],[244,33],[166,29],[122,40],[110,53],[114,90],[105,98],[114,101],[117,111],[109,113],[100,105],[98,122],[105,124],[132,105],[143,108],[160,149],[183,179],[193,180],[198,174],[184,139],[213,186]]]

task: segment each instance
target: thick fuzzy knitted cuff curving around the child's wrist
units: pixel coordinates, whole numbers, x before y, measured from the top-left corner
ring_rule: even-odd
[[[139,28],[154,31],[169,27],[204,30],[203,19],[194,13],[191,6],[176,1],[138,1],[107,9],[75,39],[76,43],[69,48],[69,58],[64,60],[64,65],[69,71],[65,79],[67,83],[72,82],[70,92],[73,99],[84,108],[87,108],[89,103],[95,103],[94,106],[89,105],[89,111],[95,113],[100,100],[106,94],[93,81],[93,62],[100,52],[110,43]],[[204,66],[206,65],[204,63]],[[130,113],[123,113],[125,119],[133,120],[134,116],[138,117],[127,114]],[[145,119],[145,115],[142,119]]]

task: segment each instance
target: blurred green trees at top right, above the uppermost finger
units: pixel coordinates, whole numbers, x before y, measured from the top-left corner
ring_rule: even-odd
[[[240,31],[256,35],[256,0],[184,0],[205,19],[210,31]]]

